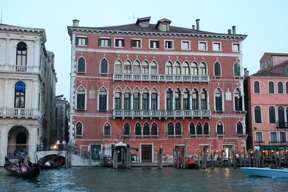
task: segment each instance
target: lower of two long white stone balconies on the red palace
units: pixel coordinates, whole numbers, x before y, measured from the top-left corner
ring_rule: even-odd
[[[113,109],[113,119],[116,117],[126,117],[134,118],[211,118],[211,110],[130,110],[130,109]]]

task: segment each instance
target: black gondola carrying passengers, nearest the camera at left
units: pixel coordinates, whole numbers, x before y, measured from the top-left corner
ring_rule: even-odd
[[[5,162],[6,162],[6,164],[4,164],[4,168],[12,176],[15,176],[15,177],[18,177],[18,178],[33,178],[33,177],[38,177],[39,174],[40,174],[40,166],[39,166],[38,162],[37,162],[37,164],[33,164],[33,168],[30,168],[30,169],[28,169],[28,171],[23,172],[23,173],[16,173],[16,172],[12,171],[12,169],[11,170],[8,169],[14,163],[9,161],[7,159],[7,157],[5,157]],[[32,165],[32,163],[28,161],[28,165]],[[35,167],[34,167],[34,165],[35,165]]]

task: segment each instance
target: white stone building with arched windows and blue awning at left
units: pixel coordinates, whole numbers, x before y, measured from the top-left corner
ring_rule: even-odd
[[[7,149],[11,159],[28,147],[34,160],[37,145],[54,142],[57,78],[45,42],[44,29],[0,24],[0,166]]]

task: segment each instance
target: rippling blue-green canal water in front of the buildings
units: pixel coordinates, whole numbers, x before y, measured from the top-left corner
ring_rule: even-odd
[[[2,169],[0,169],[2,170]],[[61,168],[38,178],[0,173],[0,192],[286,192],[288,178],[249,177],[239,168]]]

